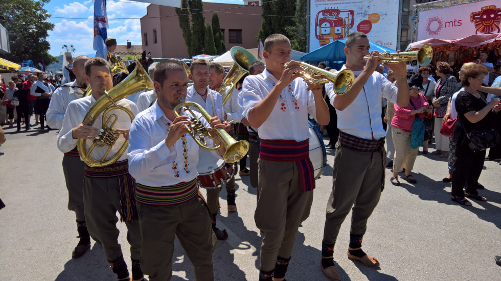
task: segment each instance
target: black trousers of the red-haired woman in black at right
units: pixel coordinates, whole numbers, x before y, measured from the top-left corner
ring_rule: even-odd
[[[456,162],[452,166],[451,195],[465,197],[465,192],[476,195],[479,177],[484,167],[486,150],[472,151],[468,144],[457,144]],[[465,189],[465,191],[463,191]]]

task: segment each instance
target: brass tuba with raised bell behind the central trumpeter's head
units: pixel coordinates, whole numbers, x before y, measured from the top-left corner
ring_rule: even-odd
[[[250,64],[258,60],[253,54],[250,54],[247,49],[239,46],[232,47],[231,55],[235,63],[226,76],[224,76],[221,86],[216,89],[216,92],[221,94],[223,105],[225,105],[230,98],[233,89],[237,86],[237,82],[249,73]],[[224,90],[226,86],[231,86],[228,91]]]

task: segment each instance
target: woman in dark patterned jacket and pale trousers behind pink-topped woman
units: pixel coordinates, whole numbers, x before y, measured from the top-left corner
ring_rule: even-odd
[[[454,87],[458,84],[456,77],[451,75],[452,69],[446,62],[437,63],[437,75],[440,79],[437,81],[434,89],[434,95],[431,97],[431,104],[435,107],[435,145],[436,149],[431,154],[440,155],[441,158],[449,157],[449,138],[440,134],[442,127],[442,118],[447,111],[447,103],[453,94]]]

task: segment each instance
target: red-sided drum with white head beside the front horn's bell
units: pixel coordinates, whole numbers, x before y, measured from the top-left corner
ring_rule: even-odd
[[[197,164],[198,185],[204,189],[216,189],[223,187],[235,174],[233,164],[224,163],[208,150],[200,149]]]

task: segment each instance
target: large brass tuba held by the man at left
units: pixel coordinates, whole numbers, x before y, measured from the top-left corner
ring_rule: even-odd
[[[107,117],[106,115],[111,110],[121,109],[129,115],[130,121],[132,122],[132,120],[134,119],[134,114],[132,114],[132,112],[127,108],[117,105],[116,102],[121,100],[122,98],[145,89],[153,89],[153,82],[151,81],[150,76],[148,76],[148,73],[146,73],[139,61],[136,62],[134,71],[132,71],[132,73],[130,73],[127,78],[125,78],[117,86],[113,87],[111,90],[109,90],[109,92],[103,89],[105,90],[105,94],[98,100],[96,100],[96,102],[89,108],[87,114],[83,118],[84,121],[87,119],[89,120],[86,125],[92,126],[99,114],[103,113],[101,119],[102,136],[100,138],[93,139],[92,144],[88,149],[85,147],[87,140],[79,139],[77,141],[78,153],[80,154],[80,157],[85,162],[85,164],[90,167],[104,167],[117,162],[117,160],[124,154],[124,152],[127,150],[128,141],[125,141],[124,144],[122,144],[115,155],[107,159],[111,147],[113,146],[113,144],[115,144],[121,133],[117,132],[117,130],[113,128],[113,125],[117,122],[118,119],[117,115],[111,114],[109,117]],[[108,146],[108,149],[100,160],[90,157],[90,152],[96,146]]]

